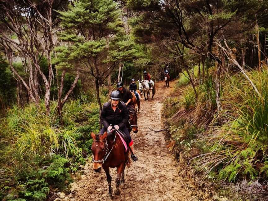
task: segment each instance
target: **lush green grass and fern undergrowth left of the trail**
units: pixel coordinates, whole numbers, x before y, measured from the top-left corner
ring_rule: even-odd
[[[107,100],[107,89],[101,99]],[[45,200],[52,189],[63,189],[71,173],[91,154],[91,131],[99,131],[99,105],[91,92],[68,100],[62,120],[51,101],[24,108],[13,106],[0,123],[0,199]]]

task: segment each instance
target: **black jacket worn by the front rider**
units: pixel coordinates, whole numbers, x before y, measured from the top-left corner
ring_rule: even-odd
[[[120,128],[123,128],[129,119],[127,106],[122,101],[119,101],[114,111],[112,109],[112,103],[107,102],[102,107],[100,118],[105,129],[107,129],[110,124],[118,125]]]

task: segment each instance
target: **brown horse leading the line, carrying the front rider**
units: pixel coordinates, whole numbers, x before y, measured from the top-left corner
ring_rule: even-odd
[[[107,177],[107,182],[109,185],[109,196],[112,198],[113,190],[111,187],[112,177],[110,176],[109,168],[116,168],[117,177],[116,177],[116,190],[115,194],[119,195],[119,185],[122,175],[121,185],[125,184],[124,172],[126,166],[129,167],[131,162],[129,159],[129,148],[127,152],[124,152],[124,145],[121,139],[115,132],[111,130],[109,133],[105,132],[103,135],[95,135],[91,133],[93,143],[91,146],[93,153],[93,169],[95,172],[100,172],[101,167],[104,169]]]

